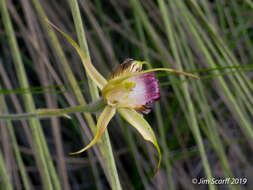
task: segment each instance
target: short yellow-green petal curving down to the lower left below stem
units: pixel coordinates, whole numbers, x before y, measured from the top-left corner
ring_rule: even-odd
[[[110,122],[112,117],[115,115],[115,112],[116,112],[116,109],[114,107],[106,106],[98,118],[97,127],[96,127],[96,134],[95,134],[94,139],[90,142],[90,144],[88,144],[83,149],[81,149],[77,152],[70,153],[70,154],[71,155],[80,154],[80,153],[84,152],[85,150],[89,149],[90,147],[92,147],[94,144],[96,144],[98,142],[98,140],[100,140],[102,134],[104,133],[106,127],[108,126],[108,123]]]

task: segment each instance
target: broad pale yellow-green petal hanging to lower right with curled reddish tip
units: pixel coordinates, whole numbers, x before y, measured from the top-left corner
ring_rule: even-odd
[[[156,175],[158,169],[160,168],[161,164],[161,151],[159,148],[159,145],[157,143],[155,134],[151,128],[151,126],[148,124],[148,122],[143,118],[141,114],[136,112],[135,110],[125,109],[125,108],[119,108],[118,109],[120,115],[129,122],[141,135],[142,137],[153,143],[159,153],[159,161],[157,168],[155,169],[154,176]]]

